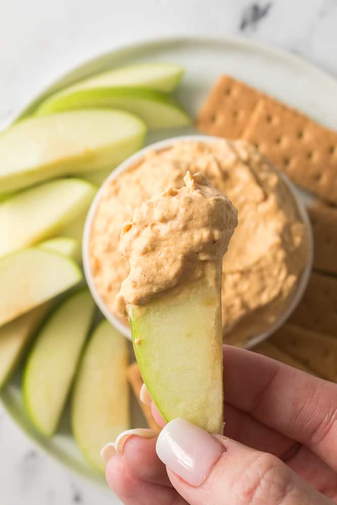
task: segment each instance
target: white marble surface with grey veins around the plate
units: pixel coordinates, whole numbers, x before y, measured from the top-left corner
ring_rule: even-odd
[[[2,0],[0,124],[60,73],[151,36],[242,35],[297,53],[337,77],[337,0]],[[0,503],[117,503],[39,453],[0,409]]]

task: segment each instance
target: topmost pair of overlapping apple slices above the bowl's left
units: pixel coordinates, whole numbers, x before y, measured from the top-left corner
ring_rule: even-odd
[[[172,64],[139,64],[104,72],[47,98],[37,115],[88,108],[115,108],[141,118],[151,129],[190,124],[180,105],[168,94],[183,69]]]

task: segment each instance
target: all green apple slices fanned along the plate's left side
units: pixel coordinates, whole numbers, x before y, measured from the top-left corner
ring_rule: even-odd
[[[95,308],[82,282],[83,225],[98,185],[148,128],[189,124],[169,94],[182,73],[137,64],[92,76],[0,135],[0,388],[24,361],[27,414],[52,436],[75,381],[74,435],[100,471],[100,449],[129,427],[127,345],[102,322],[85,348]]]

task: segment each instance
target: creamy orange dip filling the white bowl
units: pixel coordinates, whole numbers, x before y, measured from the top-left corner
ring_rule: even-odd
[[[226,340],[242,344],[284,311],[308,259],[306,228],[293,195],[273,166],[246,142],[177,142],[149,151],[108,182],[89,240],[93,280],[118,317],[115,298],[129,274],[128,259],[119,249],[122,225],[146,200],[167,188],[183,187],[187,171],[204,174],[238,211],[238,226],[222,265],[222,323]],[[211,228],[209,223],[206,232]],[[179,261],[176,265],[172,260],[168,268],[179,270]]]

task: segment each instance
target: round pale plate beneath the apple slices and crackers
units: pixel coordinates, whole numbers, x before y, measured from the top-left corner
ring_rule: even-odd
[[[185,76],[176,94],[192,116],[196,115],[218,76],[228,73],[337,130],[337,81],[325,72],[298,57],[252,42],[196,37],[153,40],[115,49],[63,76],[37,95],[11,121],[27,114],[34,104],[52,91],[77,79],[110,67],[145,61],[168,61],[185,67]],[[195,131],[163,130],[149,135],[148,143],[189,133]],[[18,373],[1,395],[1,401],[14,421],[51,457],[84,477],[103,482],[103,478],[86,465],[76,447],[70,432],[69,413],[65,413],[61,428],[53,439],[38,436],[23,410],[19,385]],[[138,416],[139,412],[135,417]]]

